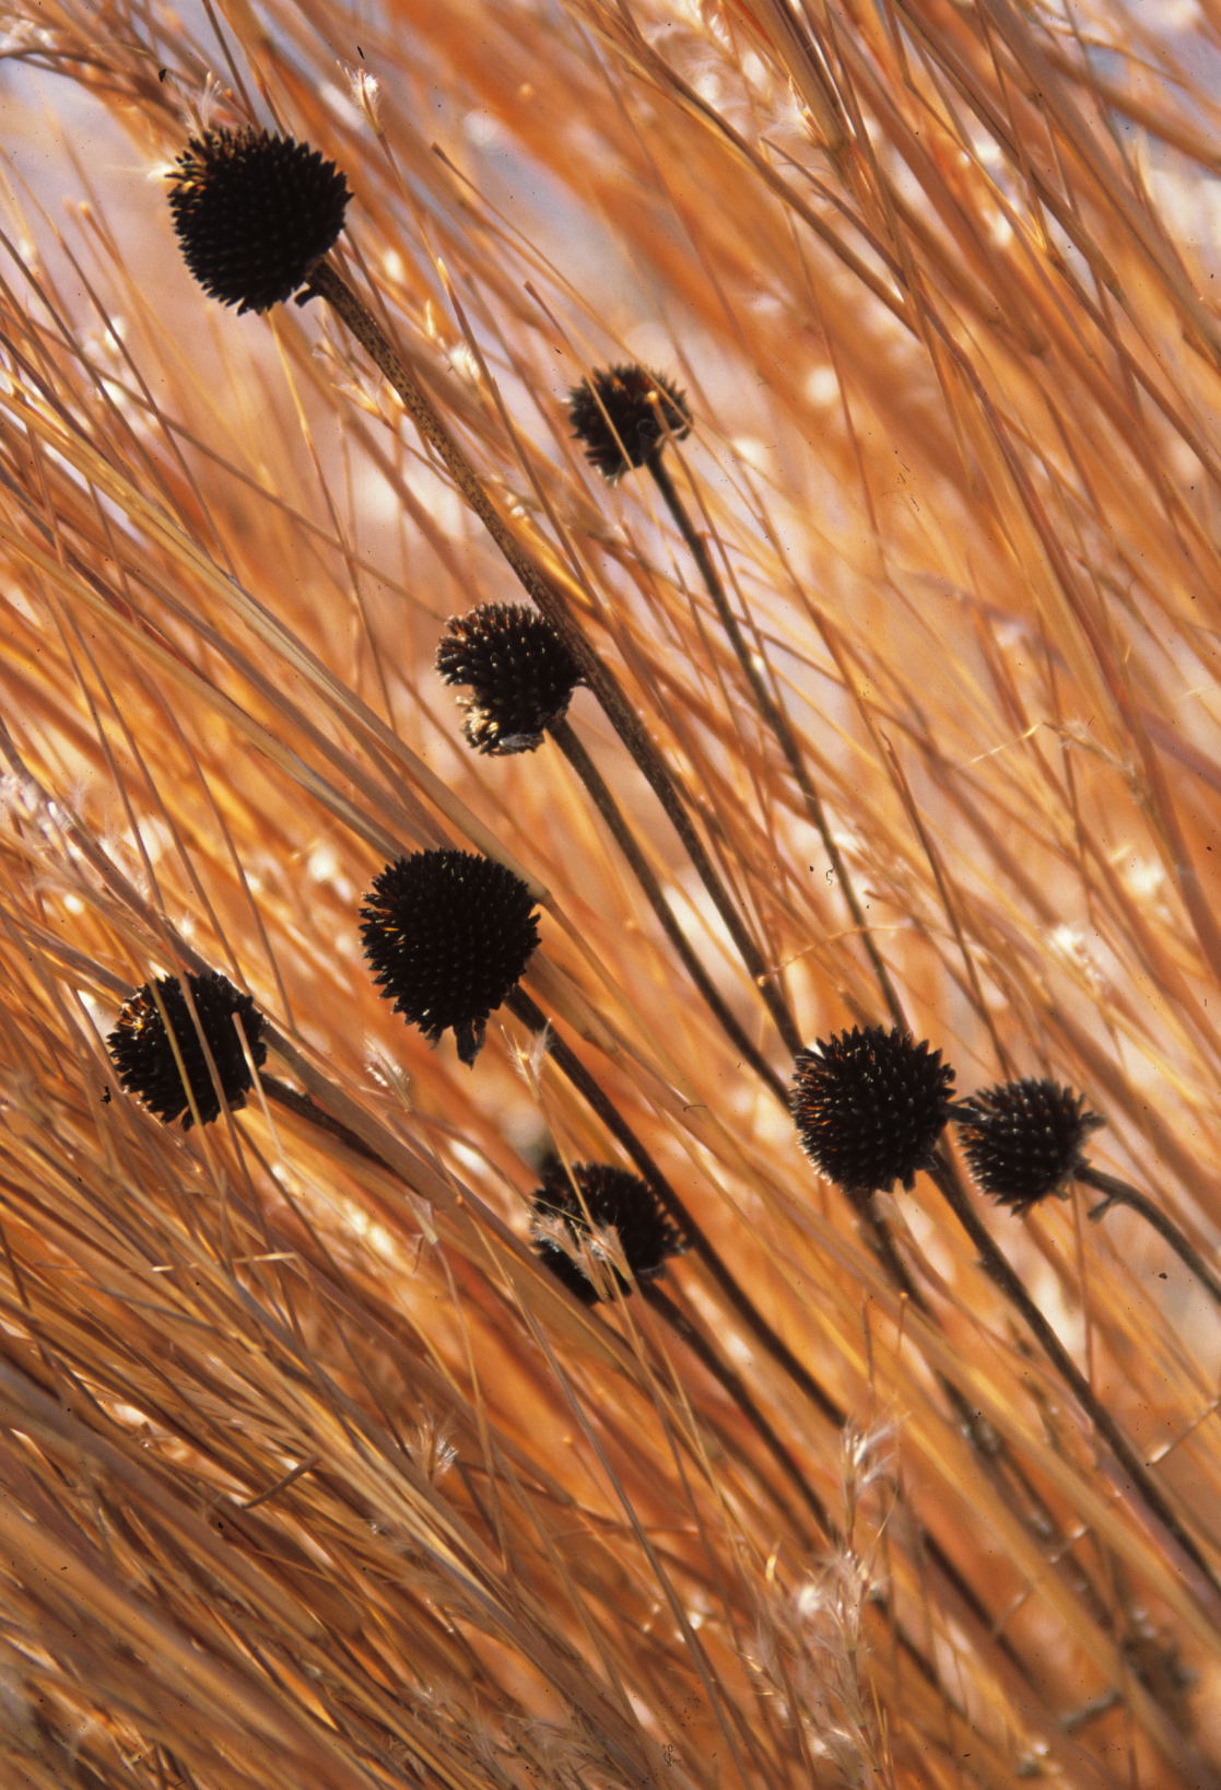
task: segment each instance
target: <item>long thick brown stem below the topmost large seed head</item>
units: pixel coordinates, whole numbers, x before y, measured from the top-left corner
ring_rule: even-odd
[[[431,397],[424,392],[419,379],[406,365],[403,354],[390,342],[369,306],[356,292],[353,292],[333,261],[322,258],[322,261],[313,267],[306,294],[310,297],[322,297],[333,306],[378,371],[390,381],[397,396],[403,399],[412,422],[446,465],[471,510],[483,523],[489,535],[516,573],[526,596],[530,596],[537,609],[546,616],[576,659],[582,680],[602,703],[607,720],[661,802],[666,818],[682,841],[682,848],[691,859],[695,874],[707,890],[709,900],[722,916],[725,931],[732,938],[747,972],[757,986],[759,995],[772,1015],[775,1029],[779,1031],[786,1049],[795,1056],[800,1049],[800,1033],[797,1031],[793,1015],[775,984],[773,972],[764,963],[759,945],[750,936],[750,931],[730,899],[729,890],[716,874],[713,859],[709,857],[709,852],[691,822],[670,766],[650,739],[648,730],[636,709],[627,700],[614,671],[593,650],[578,625],[573,621],[557,582],[542,569],[542,566],[539,566],[534,555],[526,551],[510,524],[500,514],[487,494],[483,480],[451,435]]]

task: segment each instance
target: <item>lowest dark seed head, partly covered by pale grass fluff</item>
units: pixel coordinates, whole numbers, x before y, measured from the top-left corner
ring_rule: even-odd
[[[686,1244],[664,1212],[657,1194],[628,1174],[603,1162],[548,1164],[542,1187],[534,1196],[534,1248],[550,1271],[585,1305],[602,1298],[602,1289],[575,1260],[571,1246],[582,1246],[605,1262],[621,1292],[632,1283],[612,1266],[602,1232],[614,1232],[623,1260],[636,1280],[652,1280],[671,1255]],[[557,1235],[562,1233],[562,1235]]]

